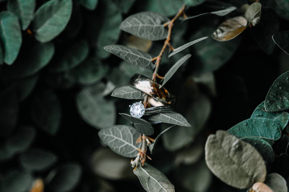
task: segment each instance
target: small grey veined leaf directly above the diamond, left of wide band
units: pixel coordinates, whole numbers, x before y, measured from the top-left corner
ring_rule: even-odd
[[[124,99],[143,99],[144,93],[132,86],[123,86],[114,89],[111,96]]]

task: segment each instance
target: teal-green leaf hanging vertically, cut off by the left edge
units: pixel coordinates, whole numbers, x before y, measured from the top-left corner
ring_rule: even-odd
[[[22,36],[18,18],[11,11],[2,11],[0,13],[0,37],[4,45],[7,64],[12,64],[20,50]]]

